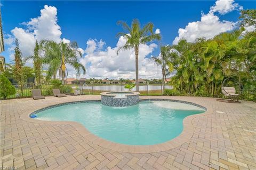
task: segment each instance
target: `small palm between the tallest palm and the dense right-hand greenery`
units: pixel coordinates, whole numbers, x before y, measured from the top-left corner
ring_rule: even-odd
[[[173,64],[171,61],[171,57],[172,57],[172,54],[175,55],[175,53],[173,53],[171,50],[172,50],[171,46],[161,46],[160,56],[159,57],[153,56],[151,58],[156,64],[158,64],[162,68],[162,86],[163,86],[162,91],[163,92],[165,89],[166,76],[170,75],[170,73],[173,71]]]

